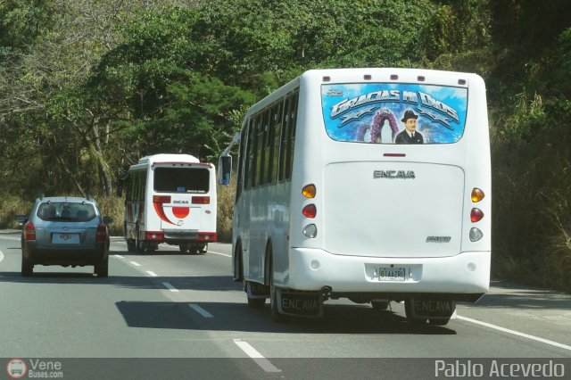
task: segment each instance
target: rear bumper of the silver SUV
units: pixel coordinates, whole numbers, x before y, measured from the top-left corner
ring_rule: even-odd
[[[96,265],[109,255],[108,244],[96,243],[93,248],[59,246],[57,248],[37,247],[36,242],[24,244],[22,255],[30,264],[41,265]]]

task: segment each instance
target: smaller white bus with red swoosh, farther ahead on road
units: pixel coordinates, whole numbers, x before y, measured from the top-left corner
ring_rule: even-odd
[[[155,154],[128,169],[124,237],[128,252],[153,252],[158,244],[202,252],[216,235],[216,171],[189,154]],[[122,190],[120,191],[122,193]]]

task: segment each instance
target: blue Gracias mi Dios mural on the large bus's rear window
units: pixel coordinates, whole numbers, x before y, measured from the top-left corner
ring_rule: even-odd
[[[468,89],[367,83],[323,85],[327,135],[374,144],[450,144],[464,133]]]

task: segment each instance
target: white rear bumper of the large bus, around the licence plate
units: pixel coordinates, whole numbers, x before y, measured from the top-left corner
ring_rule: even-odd
[[[329,287],[333,298],[404,300],[424,295],[476,302],[490,287],[490,256],[490,252],[462,252],[443,258],[374,258],[292,248],[289,273],[276,273],[275,281],[295,290]],[[376,270],[391,264],[410,268],[410,276],[404,281],[380,281]]]

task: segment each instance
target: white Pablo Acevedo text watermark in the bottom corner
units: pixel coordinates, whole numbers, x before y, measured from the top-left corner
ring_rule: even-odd
[[[565,364],[557,360],[514,361],[513,359],[436,359],[434,360],[434,377],[507,377],[507,378],[551,378],[565,377]]]

